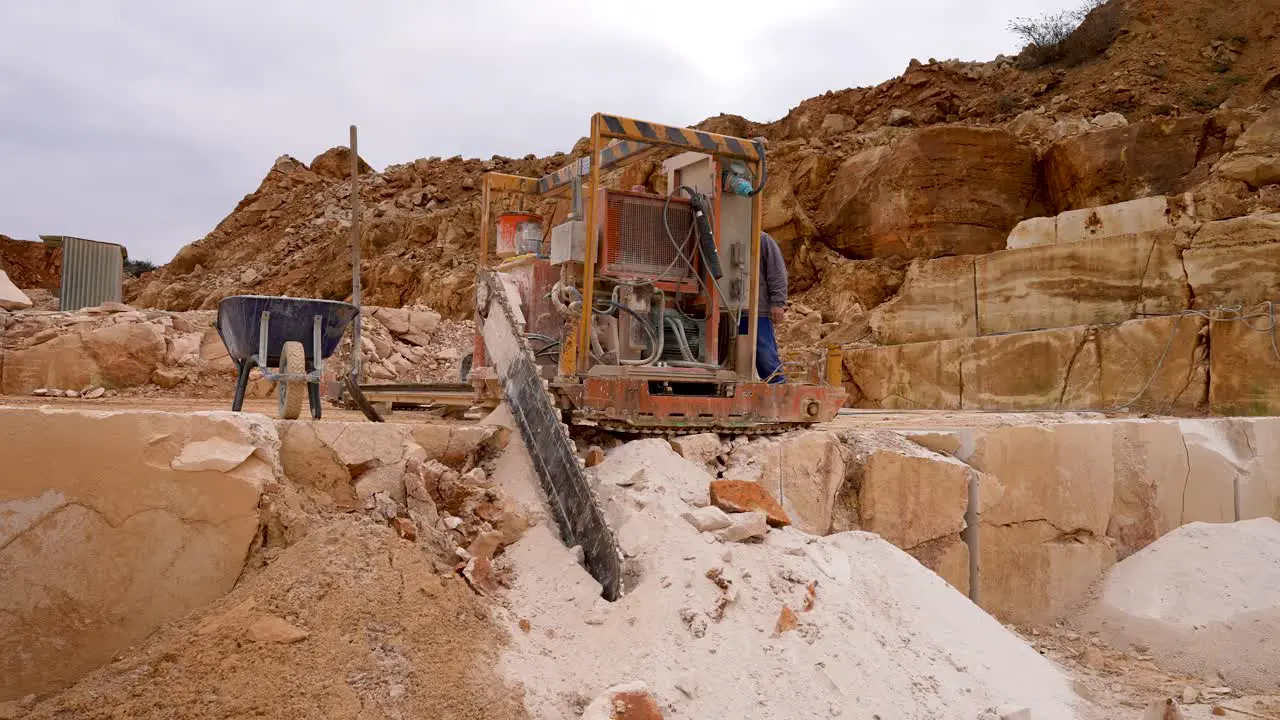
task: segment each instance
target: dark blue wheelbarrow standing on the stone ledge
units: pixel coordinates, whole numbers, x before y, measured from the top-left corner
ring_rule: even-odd
[[[244,405],[250,370],[257,368],[276,383],[280,418],[296,420],[305,395],[311,416],[319,420],[324,361],[338,348],[356,313],[355,305],[334,300],[265,295],[223,299],[215,327],[238,373],[232,410],[238,413]]]

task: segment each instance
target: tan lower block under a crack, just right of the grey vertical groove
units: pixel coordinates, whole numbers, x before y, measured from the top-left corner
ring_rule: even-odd
[[[1115,564],[1106,541],[1043,520],[983,523],[978,533],[978,603],[1005,623],[1036,625],[1066,615]]]

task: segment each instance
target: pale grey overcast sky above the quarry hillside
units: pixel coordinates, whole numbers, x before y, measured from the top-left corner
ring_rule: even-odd
[[[1068,4],[0,0],[0,233],[164,263],[351,123],[384,168],[568,150],[598,110],[771,120],[911,58],[1012,53],[1010,18]]]

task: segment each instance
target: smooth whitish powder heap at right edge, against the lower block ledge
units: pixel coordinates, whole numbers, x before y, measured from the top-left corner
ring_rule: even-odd
[[[1275,693],[1280,523],[1192,523],[1116,565],[1076,626],[1142,643],[1161,667]]]

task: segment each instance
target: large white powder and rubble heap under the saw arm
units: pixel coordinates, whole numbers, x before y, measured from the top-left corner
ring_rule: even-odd
[[[494,478],[518,496],[517,468]],[[1079,716],[1064,675],[884,541],[771,528],[783,518],[754,483],[713,484],[664,441],[593,473],[637,583],[600,600],[545,524],[507,548],[500,670],[534,716],[579,717],[636,682],[667,717]]]

